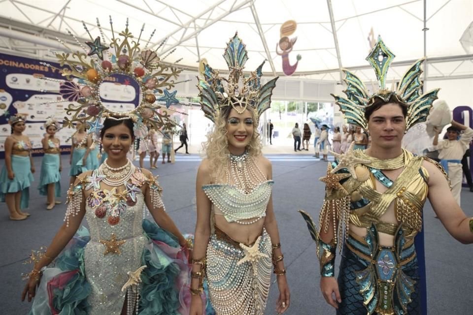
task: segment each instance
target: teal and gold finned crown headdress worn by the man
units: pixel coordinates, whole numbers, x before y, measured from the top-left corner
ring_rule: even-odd
[[[363,81],[354,73],[342,69],[345,73],[343,81],[347,85],[346,90],[343,91],[346,98],[333,94],[332,96],[335,97],[335,102],[340,107],[340,111],[345,116],[345,121],[348,124],[367,129],[368,121],[365,118],[365,111],[373,105],[376,99],[387,102],[391,97],[395,97],[407,107],[406,130],[417,123],[426,121],[432,103],[438,98],[437,94],[440,89],[422,94],[423,83],[420,80],[420,75],[422,73],[421,65],[425,58],[413,63],[402,76],[397,89],[392,91],[386,88],[386,74],[394,57],[396,56],[386,47],[381,36],[378,36],[376,45],[366,58],[374,68],[379,87],[379,91],[373,91],[374,94],[371,96]]]

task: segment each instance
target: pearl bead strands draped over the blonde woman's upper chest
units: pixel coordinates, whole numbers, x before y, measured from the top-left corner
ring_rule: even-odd
[[[266,175],[256,164],[254,158],[250,158],[247,151],[240,156],[230,155],[230,163],[225,167],[227,184],[235,183],[235,186],[245,193],[251,192],[262,181]]]

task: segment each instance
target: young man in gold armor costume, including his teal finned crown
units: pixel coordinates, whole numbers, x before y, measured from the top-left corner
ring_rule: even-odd
[[[362,151],[353,150],[352,143],[344,155],[334,154],[336,162],[329,163],[321,178],[326,195],[319,231],[301,211],[317,243],[322,293],[338,315],[426,314],[423,244],[414,238],[422,231],[427,198],[455,239],[473,243],[473,219],[456,203],[441,166],[401,147],[405,131],[425,121],[439,89],[421,95],[423,59],[407,70],[396,91],[386,89],[393,58],[378,38],[367,58],[379,82],[372,96],[344,70],[347,97],[333,96],[347,123],[369,130],[372,145]],[[337,245],[343,247],[338,282]]]

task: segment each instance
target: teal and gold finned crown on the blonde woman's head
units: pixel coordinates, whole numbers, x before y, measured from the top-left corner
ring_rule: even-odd
[[[230,74],[227,78],[221,77],[218,70],[212,69],[208,64],[204,64],[204,78],[198,78],[197,88],[200,93],[201,106],[205,117],[215,122],[220,109],[225,106],[232,106],[236,112],[243,113],[247,106],[255,109],[256,117],[270,108],[272,90],[276,86],[279,77],[270,80],[261,86],[261,71],[265,62],[250,72],[247,77],[243,74],[243,68],[248,60],[246,46],[243,44],[238,34],[230,39],[223,54],[227,62]]]

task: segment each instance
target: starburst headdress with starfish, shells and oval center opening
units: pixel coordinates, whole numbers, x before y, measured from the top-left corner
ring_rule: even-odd
[[[61,66],[67,66],[58,70],[68,79],[60,83],[59,93],[64,99],[74,102],[66,109],[69,116],[64,118],[63,125],[72,127],[76,122],[87,123],[89,133],[97,133],[102,119],[130,118],[135,123],[135,136],[138,138],[148,133],[147,126],[157,130],[163,126],[175,126],[168,111],[171,103],[179,101],[175,97],[176,91],[169,93],[169,90],[181,83],[175,80],[183,68],[176,66],[180,60],[164,62],[173,51],[163,58],[158,56],[157,50],[164,41],[158,48],[149,49],[153,31],[142,47],[140,40],[144,24],[136,38],[128,29],[128,19],[125,30],[116,33],[110,17],[109,44],[104,44],[105,35],[98,19],[100,36],[95,39],[85,23],[83,26],[91,39],[85,42],[90,49],[69,32],[84,52],[74,52],[59,40],[70,52],[56,53]],[[159,101],[165,102],[166,107]]]

